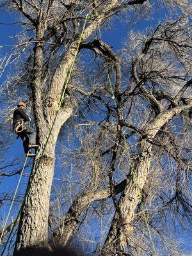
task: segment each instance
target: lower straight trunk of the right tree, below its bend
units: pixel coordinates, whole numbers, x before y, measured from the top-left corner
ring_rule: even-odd
[[[132,168],[131,175],[127,179],[127,186],[120,198],[120,212],[116,212],[108,237],[102,248],[102,255],[122,255],[127,245],[127,236],[131,232],[131,220],[140,200],[140,193],[147,179],[150,166],[150,153],[152,146],[146,140],[141,142],[140,154],[136,164]]]

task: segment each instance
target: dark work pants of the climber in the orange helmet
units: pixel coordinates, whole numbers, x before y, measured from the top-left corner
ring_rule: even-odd
[[[36,143],[36,132],[32,127],[26,127],[26,130],[19,132],[18,135],[23,141],[24,152],[27,154],[29,151],[28,145]]]

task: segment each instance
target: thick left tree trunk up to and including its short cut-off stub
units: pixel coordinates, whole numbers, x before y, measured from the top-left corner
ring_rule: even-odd
[[[44,127],[44,133],[38,134],[41,148],[36,153],[29,178],[26,200],[20,215],[15,252],[27,246],[45,246],[47,244],[49,199],[55,163],[54,150],[60,128],[72,115],[72,111],[71,106],[68,108],[65,106],[65,110],[61,109],[47,145],[49,129]],[[45,151],[42,156],[44,147]]]

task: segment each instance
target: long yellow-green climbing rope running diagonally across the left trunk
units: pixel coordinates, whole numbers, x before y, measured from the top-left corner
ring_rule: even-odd
[[[53,122],[52,122],[52,126],[51,126],[51,129],[50,129],[49,134],[48,134],[48,136],[47,136],[47,140],[45,141],[45,145],[44,145],[44,148],[43,148],[43,150],[42,150],[42,154],[41,154],[41,156],[40,156],[39,159],[38,159],[38,164],[37,164],[37,166],[36,166],[36,172],[37,172],[37,170],[38,170],[38,166],[40,165],[40,161],[41,161],[41,159],[42,159],[42,156],[44,155],[45,148],[47,147],[47,143],[48,143],[48,141],[49,141],[49,138],[50,138],[50,136],[51,136],[52,129],[53,129],[53,127],[54,127],[54,123],[56,122],[56,118],[57,118],[58,113],[59,113],[59,111],[60,111],[61,104],[62,104],[63,99],[64,99],[64,97],[65,97],[65,92],[66,92],[68,83],[69,83],[69,81],[70,81],[70,75],[72,74],[72,70],[73,70],[73,68],[74,68],[74,63],[75,63],[75,61],[76,61],[77,54],[78,54],[78,52],[79,52],[79,45],[81,44],[81,39],[82,39],[82,36],[83,36],[83,33],[84,33],[84,29],[85,29],[85,26],[86,26],[86,20],[88,19],[88,15],[89,15],[89,13],[85,16],[85,19],[84,19],[83,29],[82,29],[81,35],[80,35],[80,37],[79,37],[79,42],[78,42],[78,44],[77,44],[76,52],[75,52],[75,54],[74,54],[74,59],[73,59],[73,61],[72,61],[72,65],[71,65],[70,71],[69,71],[69,73],[68,73],[67,81],[66,81],[65,86],[64,86],[64,88],[63,88],[63,93],[62,93],[62,95],[61,95],[60,103],[59,103],[59,105],[58,105],[58,110],[56,111],[56,116],[55,116],[55,118],[54,118],[54,120],[53,120]],[[27,159],[27,157],[26,157],[26,159]],[[26,163],[26,162],[25,162],[25,163]],[[24,203],[26,202],[26,197],[28,196],[29,189],[31,188],[31,182],[32,182],[33,179],[34,179],[36,172],[33,174],[33,176],[31,176],[31,180],[29,180],[28,188],[26,189],[26,193],[25,193],[25,195],[24,195],[24,199],[22,200],[22,204],[21,204],[21,206],[20,206],[19,212],[18,212],[18,214],[17,214],[17,216],[16,216],[16,218],[15,218],[15,221],[13,222],[13,226],[12,226],[12,229],[10,230],[10,234],[9,234],[9,236],[8,236],[8,239],[6,240],[6,243],[4,244],[4,248],[3,248],[3,251],[1,252],[1,256],[3,256],[4,251],[6,250],[6,246],[7,246],[7,244],[8,244],[8,241],[10,240],[10,237],[12,236],[13,229],[15,228],[15,225],[16,225],[16,223],[17,223],[17,220],[19,219],[20,212],[22,211],[22,209],[23,209],[23,207],[24,207]],[[13,199],[14,199],[14,198],[13,198]],[[8,219],[8,218],[7,218],[7,219]],[[2,238],[2,237],[3,237],[3,235],[1,234],[1,238]],[[1,239],[0,239],[0,241],[1,241]]]

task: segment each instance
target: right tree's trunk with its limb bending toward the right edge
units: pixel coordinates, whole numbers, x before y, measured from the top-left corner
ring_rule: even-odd
[[[150,168],[152,150],[150,140],[154,140],[157,132],[166,123],[170,122],[173,116],[178,115],[184,109],[190,109],[191,106],[192,103],[190,102],[188,106],[177,106],[169,111],[165,110],[145,127],[146,138],[141,139],[138,159],[130,177],[127,179],[127,186],[120,197],[120,212],[116,211],[115,213],[108,237],[102,248],[102,255],[120,256],[127,246],[127,237],[129,237],[129,233],[132,230],[131,221],[134,218],[134,211],[140,200],[140,193]]]

